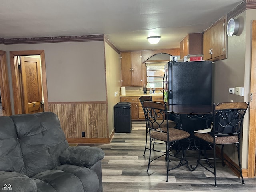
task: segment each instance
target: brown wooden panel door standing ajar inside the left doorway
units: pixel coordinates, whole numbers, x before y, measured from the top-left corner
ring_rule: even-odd
[[[24,112],[43,112],[40,60],[20,56],[20,67]]]

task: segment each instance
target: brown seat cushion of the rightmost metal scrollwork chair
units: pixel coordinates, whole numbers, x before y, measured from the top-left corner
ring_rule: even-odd
[[[213,136],[208,133],[195,133],[195,136],[213,144]],[[225,136],[225,137],[215,137],[215,144],[230,144],[230,143],[238,143],[237,136]]]

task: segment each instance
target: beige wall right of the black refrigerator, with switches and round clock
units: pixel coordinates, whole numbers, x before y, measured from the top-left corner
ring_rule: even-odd
[[[256,20],[256,10],[246,10],[235,19],[240,28],[237,35],[228,37],[228,58],[214,63],[214,102],[245,101],[250,98],[250,63],[251,63],[251,23]],[[228,88],[244,87],[244,97],[230,94]],[[248,162],[248,117],[244,119],[242,135],[242,168],[247,168]],[[236,147],[230,145],[225,153],[236,163],[238,157]],[[226,148],[226,149],[227,149]]]

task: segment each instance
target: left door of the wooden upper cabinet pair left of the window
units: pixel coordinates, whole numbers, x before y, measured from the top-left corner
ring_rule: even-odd
[[[121,73],[122,73],[122,86],[132,85],[132,65],[131,65],[131,52],[121,53]]]

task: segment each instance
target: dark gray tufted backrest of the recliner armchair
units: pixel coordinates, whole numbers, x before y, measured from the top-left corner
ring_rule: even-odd
[[[60,165],[60,153],[67,147],[58,116],[52,112],[0,117],[2,171],[34,176]]]

